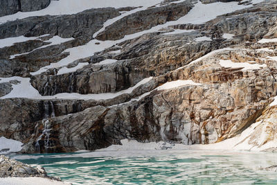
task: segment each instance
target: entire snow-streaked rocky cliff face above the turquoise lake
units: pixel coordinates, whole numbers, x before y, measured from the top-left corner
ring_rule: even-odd
[[[163,1],[0,24],[2,41],[28,38],[0,48],[0,136],[25,143],[22,152],[72,152],[121,139],[217,143],[268,121],[277,3],[222,2]],[[267,141],[275,139],[270,127]],[[249,145],[265,132],[258,130]]]

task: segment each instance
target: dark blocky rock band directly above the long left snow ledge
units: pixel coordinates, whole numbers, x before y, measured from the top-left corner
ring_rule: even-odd
[[[135,71],[129,64],[119,63],[121,64],[109,67],[91,67],[88,70],[60,76],[35,76],[32,78],[32,85],[44,96],[64,92],[100,94],[127,89],[150,76],[148,71]]]

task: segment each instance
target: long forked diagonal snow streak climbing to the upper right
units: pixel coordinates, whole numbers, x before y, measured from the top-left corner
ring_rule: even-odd
[[[84,1],[84,0],[83,0]],[[123,0],[118,1],[118,4],[120,4],[120,2]],[[134,0],[133,0],[134,1]],[[143,0],[145,1],[145,0]],[[131,13],[134,12],[138,12],[139,10],[145,10],[146,8],[150,7],[150,2],[145,1],[145,3],[143,3],[143,1],[140,1],[141,6],[143,6],[143,8],[136,8],[135,10],[132,10],[130,12],[127,12],[123,15],[120,15],[118,17],[115,17],[113,19],[109,19],[108,21],[105,22],[103,28],[101,28],[100,30],[98,30],[97,33],[95,33],[93,35],[93,37],[96,37],[96,35],[98,35],[98,33],[100,33],[101,30],[104,30],[105,27],[113,24],[115,21],[117,21],[118,19],[121,19]],[[156,1],[151,1],[152,5],[157,4],[157,0]],[[181,2],[181,1],[178,1]],[[113,3],[111,3],[112,6]],[[126,6],[128,3],[123,4],[123,6]],[[136,4],[136,3],[135,3]],[[133,5],[134,6],[134,5]],[[124,42],[127,39],[134,39],[136,37],[139,37],[145,33],[153,33],[153,32],[157,32],[159,31],[161,28],[165,28],[168,26],[174,26],[177,24],[202,24],[206,21],[210,21],[211,19],[214,19],[215,17],[217,17],[218,15],[223,15],[226,14],[228,12],[233,12],[235,10],[240,10],[242,8],[247,8],[250,7],[249,6],[239,6],[238,2],[229,2],[229,3],[222,3],[222,2],[218,2],[218,3],[211,3],[211,4],[203,4],[203,3],[196,3],[195,7],[190,10],[188,12],[187,15],[185,15],[184,17],[181,17],[180,19],[178,19],[177,21],[168,21],[166,22],[166,24],[160,24],[158,26],[154,26],[152,28],[150,28],[149,30],[143,30],[139,33],[134,33],[131,35],[125,35],[125,37],[123,39],[119,39],[116,41],[99,41],[97,39],[93,39],[90,42],[88,42],[87,44],[83,45],[83,46],[78,46],[75,48],[71,48],[71,49],[66,49],[66,51],[64,52],[69,52],[70,55],[67,56],[66,58],[60,60],[60,62],[57,63],[51,63],[50,65],[46,66],[46,67],[42,67],[41,69],[39,69],[39,71],[36,71],[34,73],[30,73],[31,75],[35,76],[37,74],[43,73],[44,71],[47,71],[47,69],[51,69],[51,68],[59,68],[59,67],[64,67],[67,64],[70,64],[71,62],[74,62],[75,60],[78,60],[80,58],[87,58],[92,56],[94,53],[99,52],[99,51],[103,51],[104,49],[107,49],[113,45],[116,45],[117,43],[120,42]],[[207,40],[207,38],[203,38],[204,40]],[[208,39],[210,40],[210,39]],[[96,43],[100,43],[100,44],[96,44]]]

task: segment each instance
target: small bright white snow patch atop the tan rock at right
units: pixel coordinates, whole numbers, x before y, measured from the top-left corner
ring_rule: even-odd
[[[247,62],[232,62],[231,60],[220,60],[222,67],[243,68],[242,71],[260,69],[267,67],[267,64],[249,64]]]

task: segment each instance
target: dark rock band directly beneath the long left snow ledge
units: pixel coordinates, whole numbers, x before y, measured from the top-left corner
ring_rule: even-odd
[[[136,96],[151,91],[154,87],[157,87],[157,84],[158,81],[148,82],[145,85],[137,87],[130,94],[120,94],[106,100],[0,99],[0,135],[27,143],[30,136],[35,132],[35,122],[37,121],[82,112],[84,109],[98,105],[109,107],[124,103]],[[10,84],[2,83],[0,85]]]

